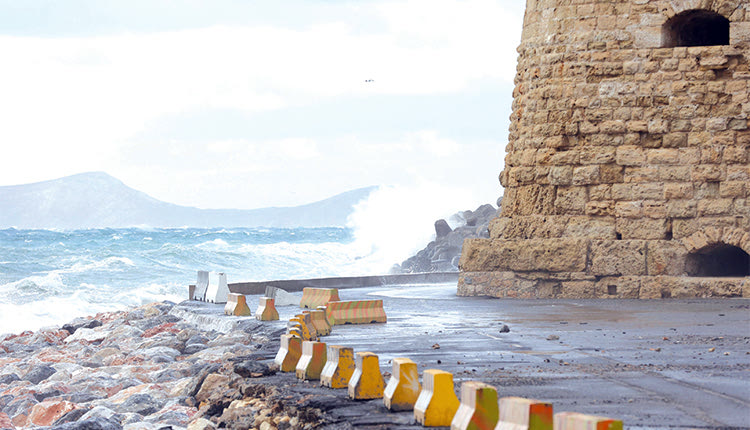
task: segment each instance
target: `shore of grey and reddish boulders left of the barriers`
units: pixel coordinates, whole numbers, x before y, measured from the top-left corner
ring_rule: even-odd
[[[340,393],[311,396],[313,385],[275,375],[278,325],[234,319],[217,331],[181,306],[0,336],[0,429],[350,427],[326,412],[347,403]]]

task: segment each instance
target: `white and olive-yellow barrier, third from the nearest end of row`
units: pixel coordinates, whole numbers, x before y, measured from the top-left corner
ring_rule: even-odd
[[[498,420],[497,389],[479,381],[461,384],[461,404],[451,430],[494,429]]]

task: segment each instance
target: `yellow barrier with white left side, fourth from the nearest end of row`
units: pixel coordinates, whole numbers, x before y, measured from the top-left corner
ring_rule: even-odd
[[[452,373],[438,369],[422,373],[422,391],[414,404],[414,419],[418,423],[425,427],[450,426],[458,405]]]

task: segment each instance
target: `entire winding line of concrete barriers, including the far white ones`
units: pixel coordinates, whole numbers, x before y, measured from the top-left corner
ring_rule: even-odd
[[[208,278],[208,273],[198,273]],[[221,274],[223,275],[223,274]],[[224,277],[226,285],[226,277]],[[193,296],[191,286],[191,298]],[[196,290],[197,290],[196,286]],[[210,286],[206,288],[206,292]],[[271,291],[282,296],[283,290]],[[269,292],[268,290],[266,291]],[[288,293],[287,293],[288,294]],[[197,296],[197,292],[196,292]],[[196,298],[195,300],[200,300]],[[285,302],[289,297],[285,297]],[[205,296],[203,301],[205,300]],[[219,303],[211,300],[214,303]],[[294,302],[293,299],[291,299]],[[244,295],[228,293],[225,313],[250,316]],[[255,317],[278,320],[274,297],[261,297]],[[553,413],[552,404],[520,397],[498,398],[497,389],[481,381],[462,383],[460,400],[453,375],[440,369],[426,369],[419,382],[417,365],[406,357],[393,359],[392,376],[386,384],[378,356],[354,353],[342,345],[326,345],[320,337],[341,324],[386,322],[382,300],[341,301],[336,289],[305,288],[298,302],[303,311],[287,323],[274,362],[282,372],[294,372],[301,380],[319,380],[322,387],[347,389],[353,400],[383,399],[390,411],[413,411],[425,427],[450,426],[452,430],[622,430],[622,421],[576,412]],[[296,304],[296,303],[295,303]]]

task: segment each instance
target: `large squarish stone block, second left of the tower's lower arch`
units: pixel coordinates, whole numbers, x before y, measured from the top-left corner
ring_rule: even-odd
[[[597,276],[645,275],[646,242],[594,240],[590,243],[590,273]]]

